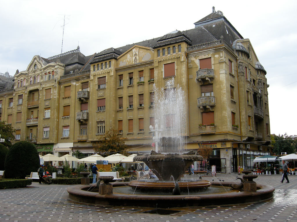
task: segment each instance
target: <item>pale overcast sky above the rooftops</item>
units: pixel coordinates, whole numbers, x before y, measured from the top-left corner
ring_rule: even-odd
[[[85,55],[157,38],[220,10],[249,38],[267,71],[271,133],[296,130],[297,1],[4,1],[0,0],[0,72],[26,70],[34,55]],[[244,2],[244,3],[241,3]]]

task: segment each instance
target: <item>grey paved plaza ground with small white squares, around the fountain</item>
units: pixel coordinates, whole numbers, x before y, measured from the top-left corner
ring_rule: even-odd
[[[203,176],[203,174],[200,174]],[[196,175],[195,175],[196,176]],[[212,182],[237,182],[238,174],[203,176]],[[240,175],[242,177],[242,174]],[[273,199],[249,204],[164,209],[90,205],[69,200],[68,185],[38,184],[31,188],[0,190],[0,221],[297,221],[297,175],[281,183],[281,175],[258,175],[259,184],[275,188]],[[120,201],[120,200],[119,200]]]

